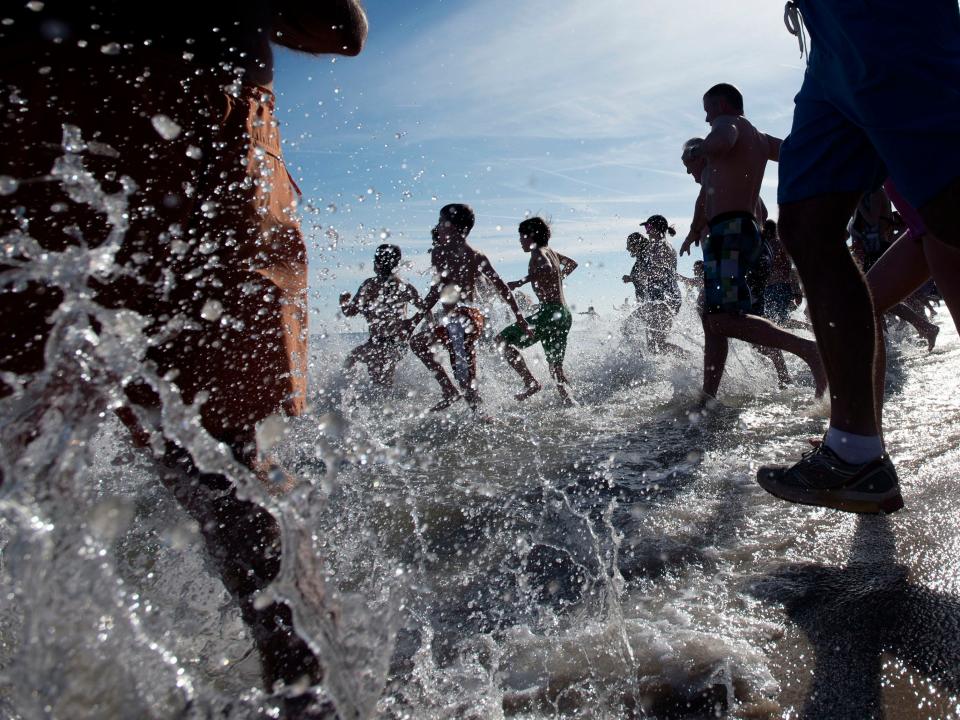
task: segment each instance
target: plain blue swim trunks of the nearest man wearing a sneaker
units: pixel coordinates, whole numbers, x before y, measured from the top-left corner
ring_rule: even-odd
[[[957,0],[796,0],[811,38],[780,203],[889,175],[922,207],[960,177]]]

